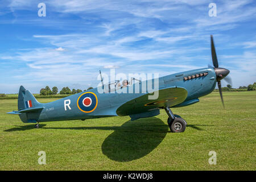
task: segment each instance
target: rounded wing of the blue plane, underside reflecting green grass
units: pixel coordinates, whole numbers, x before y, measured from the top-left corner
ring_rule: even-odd
[[[148,100],[150,93],[134,98],[121,105],[117,109],[119,116],[145,113],[164,106],[175,106],[187,98],[187,90],[181,87],[171,87],[159,90],[159,97],[155,100]]]

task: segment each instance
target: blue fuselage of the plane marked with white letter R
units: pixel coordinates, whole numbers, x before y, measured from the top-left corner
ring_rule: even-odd
[[[204,73],[207,73],[207,75],[205,74],[200,76],[200,74]],[[198,75],[199,77],[197,77]],[[185,80],[185,78],[187,78],[187,80]],[[138,82],[136,84],[142,85],[143,83]],[[134,84],[134,87],[136,84]],[[195,104],[197,101],[199,101],[197,100],[199,97],[205,96],[214,90],[216,86],[216,73],[214,72],[214,68],[201,68],[159,78],[159,90],[175,86],[186,89],[187,97],[182,103],[170,105],[170,107],[180,107]],[[127,89],[127,92],[98,93],[98,89],[94,88],[82,93],[61,98],[60,100],[42,104],[44,108],[40,113],[38,122],[115,116],[118,115],[116,113],[118,107],[130,100],[133,100],[134,98],[148,93],[148,90],[146,90],[146,93],[142,93],[141,88],[139,93],[130,93],[128,91],[129,87],[122,89]],[[95,100],[92,101],[90,98],[88,99],[88,97],[85,97],[86,94],[91,94],[91,96],[95,97]],[[86,103],[86,100],[88,100],[88,106],[81,105],[81,98],[83,99],[84,103]],[[93,104],[96,106],[90,105],[90,102],[93,102]],[[87,110],[87,108],[90,107],[91,109]]]

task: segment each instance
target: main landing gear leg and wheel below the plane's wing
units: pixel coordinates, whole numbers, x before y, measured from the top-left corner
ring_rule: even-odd
[[[174,113],[172,113],[170,107],[164,107],[164,110],[166,110],[166,113],[168,115],[167,123],[170,127],[171,132],[184,132],[187,126],[187,122],[183,118],[176,117]]]

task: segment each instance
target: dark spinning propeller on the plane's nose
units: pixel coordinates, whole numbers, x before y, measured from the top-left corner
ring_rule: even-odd
[[[226,77],[229,74],[229,70],[228,69],[218,68],[218,59],[217,59],[217,55],[216,55],[216,51],[215,51],[215,46],[214,46],[213,36],[212,35],[210,35],[210,49],[212,51],[212,63],[213,63],[213,66],[214,66],[214,71],[216,73],[216,80],[217,80],[217,84],[218,84],[218,92],[220,92],[220,97],[221,97],[222,105],[223,105],[223,107],[225,107],[223,96],[222,96],[222,90],[221,90],[221,80],[223,78],[225,78],[225,81],[231,82],[231,83],[232,83],[232,80],[231,80],[230,77]]]

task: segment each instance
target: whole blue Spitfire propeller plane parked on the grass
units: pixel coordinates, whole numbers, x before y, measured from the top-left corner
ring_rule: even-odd
[[[18,96],[18,111],[8,114],[18,114],[24,123],[47,121],[64,121],[73,119],[101,118],[129,115],[131,120],[153,117],[164,109],[168,115],[167,123],[174,133],[183,132],[187,122],[179,115],[172,113],[170,107],[183,107],[199,102],[199,97],[211,93],[216,82],[222,104],[221,80],[229,74],[229,70],[218,68],[218,60],[211,35],[211,51],[213,67],[194,69],[159,78],[158,98],[148,100],[150,90],[142,92],[143,81],[134,83],[139,86],[139,93],[99,93],[97,88],[72,96],[61,98],[46,104],[39,103],[36,98],[23,86],[20,86]],[[154,80],[151,80],[154,81]],[[148,82],[147,81],[144,81]],[[102,84],[102,87],[109,86]],[[130,85],[132,86],[132,85]],[[119,89],[129,89],[121,87]],[[127,91],[126,90],[126,91]]]

